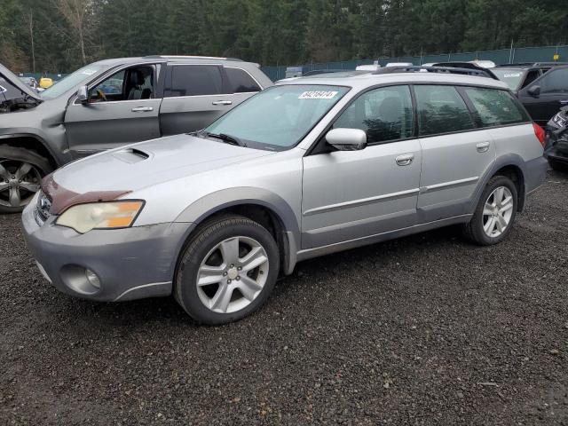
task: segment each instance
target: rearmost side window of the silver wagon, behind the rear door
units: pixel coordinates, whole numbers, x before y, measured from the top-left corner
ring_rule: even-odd
[[[485,127],[526,121],[524,112],[507,91],[468,88],[465,92]]]

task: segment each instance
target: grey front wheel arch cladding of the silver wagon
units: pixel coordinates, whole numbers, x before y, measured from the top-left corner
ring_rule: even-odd
[[[296,241],[299,241],[300,229],[294,210],[287,201],[259,188],[225,189],[194,201],[177,217],[176,222],[192,222],[195,225],[187,236],[186,241],[189,241],[199,225],[221,214],[237,214],[263,225],[278,244],[280,270],[286,273],[292,271],[296,264]]]

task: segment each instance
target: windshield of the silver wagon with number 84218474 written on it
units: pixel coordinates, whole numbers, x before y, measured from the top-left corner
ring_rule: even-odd
[[[205,131],[230,135],[247,146],[296,146],[349,88],[319,84],[272,86],[237,106]]]

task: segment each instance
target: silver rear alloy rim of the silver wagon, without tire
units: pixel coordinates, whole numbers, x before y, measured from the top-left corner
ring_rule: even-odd
[[[509,227],[513,216],[513,194],[506,186],[498,186],[485,201],[483,229],[491,238],[499,237]]]

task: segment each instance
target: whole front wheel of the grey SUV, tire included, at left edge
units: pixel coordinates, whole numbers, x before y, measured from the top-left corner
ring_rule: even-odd
[[[0,214],[20,213],[51,170],[50,162],[34,151],[0,145]]]

